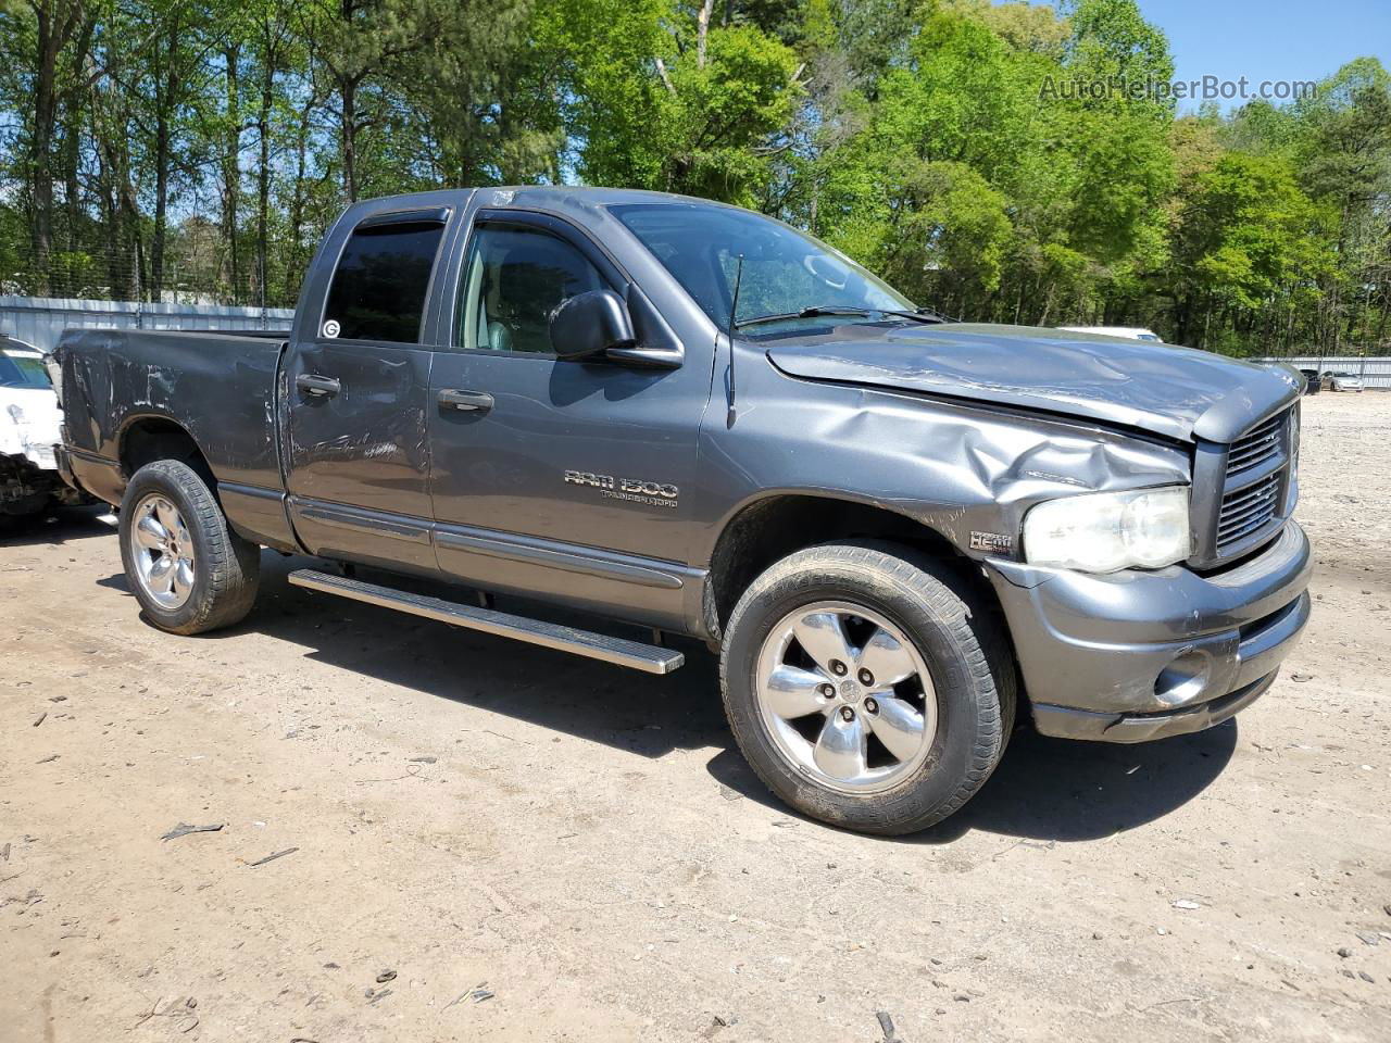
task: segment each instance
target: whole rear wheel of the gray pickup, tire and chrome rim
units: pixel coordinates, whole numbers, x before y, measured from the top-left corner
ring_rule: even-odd
[[[157,537],[140,528],[145,515],[153,528],[174,534],[164,549],[152,549]],[[181,524],[161,524],[172,520]],[[250,612],[260,585],[260,547],[231,530],[209,483],[189,464],[154,460],[135,473],[121,499],[120,535],[127,583],[160,630],[202,634],[239,623]],[[177,565],[160,570],[160,560]],[[171,572],[175,579],[168,579]]]

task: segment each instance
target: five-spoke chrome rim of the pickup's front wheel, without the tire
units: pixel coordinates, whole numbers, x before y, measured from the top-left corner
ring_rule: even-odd
[[[889,789],[932,750],[932,676],[912,642],[876,612],[829,601],[798,608],[769,631],[757,669],[773,745],[828,789]]]

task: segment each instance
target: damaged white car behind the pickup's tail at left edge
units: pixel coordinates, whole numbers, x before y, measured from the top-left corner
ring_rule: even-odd
[[[0,334],[0,519],[82,503],[58,474],[63,412],[36,348]]]

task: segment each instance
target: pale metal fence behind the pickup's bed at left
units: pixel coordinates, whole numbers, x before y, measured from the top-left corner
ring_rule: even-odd
[[[146,305],[135,300],[19,298],[0,295],[0,334],[50,352],[70,327],[90,330],[282,330],[289,307]]]

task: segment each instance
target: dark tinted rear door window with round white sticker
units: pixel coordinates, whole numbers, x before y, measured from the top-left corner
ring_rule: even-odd
[[[321,332],[356,341],[420,343],[444,224],[359,227],[344,246]]]

